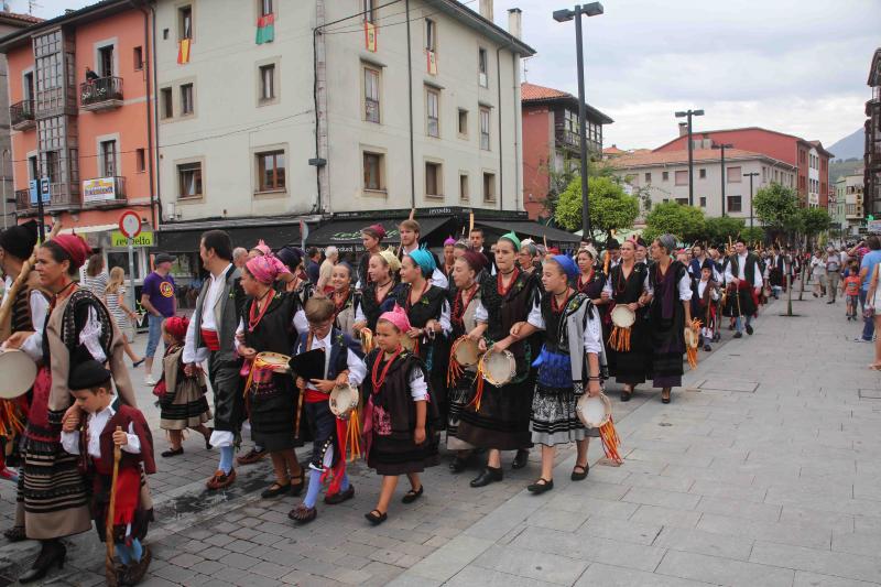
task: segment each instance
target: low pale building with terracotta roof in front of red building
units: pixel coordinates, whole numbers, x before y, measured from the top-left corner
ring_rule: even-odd
[[[741,149],[725,151],[725,195],[721,159],[715,149],[694,151],[694,205],[709,217],[731,216],[749,219],[751,197],[760,188],[779,183],[793,187],[797,167],[762,153]],[[631,193],[651,198],[652,205],[676,202],[688,205],[688,151],[655,151],[620,155],[609,164]],[[748,174],[757,173],[752,178]]]

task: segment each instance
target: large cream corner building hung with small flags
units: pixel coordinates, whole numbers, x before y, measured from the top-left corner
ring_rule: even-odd
[[[533,51],[519,40],[520,11],[509,14],[511,34],[455,0],[382,4],[157,2],[168,228],[411,207],[523,209],[519,70]],[[491,1],[479,8],[491,17]],[[258,43],[263,13],[274,39]]]

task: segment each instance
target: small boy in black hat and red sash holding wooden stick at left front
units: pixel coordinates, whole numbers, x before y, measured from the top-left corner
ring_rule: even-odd
[[[62,446],[77,455],[83,470],[91,477],[91,514],[101,542],[116,544],[122,566],[117,569],[121,585],[137,585],[152,558],[141,544],[153,520],[153,504],[142,500],[144,474],[156,472],[153,436],[144,415],[113,394],[110,371],[95,360],[77,363],[70,371],[70,394],[75,410],[65,414]],[[115,468],[115,447],[120,448]],[[115,470],[116,469],[116,470]],[[113,501],[112,536],[107,535],[109,504]]]

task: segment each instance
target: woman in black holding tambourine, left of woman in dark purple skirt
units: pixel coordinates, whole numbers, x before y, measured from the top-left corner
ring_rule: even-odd
[[[621,329],[612,326],[616,336],[608,338],[609,344],[606,346],[609,374],[623,384],[621,401],[627,402],[635,387],[645,382],[651,367],[652,349],[645,319],[651,286],[649,269],[635,259],[637,242],[632,239],[626,240],[620,251],[621,261],[609,272],[609,279],[602,286],[601,300],[609,305],[610,315],[616,305],[626,305],[635,314],[635,320],[624,337],[629,345],[621,343]]]

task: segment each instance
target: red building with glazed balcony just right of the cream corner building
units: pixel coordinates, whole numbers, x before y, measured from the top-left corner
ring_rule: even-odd
[[[581,152],[578,97],[558,89],[521,84],[523,104],[523,206],[530,218],[545,216],[553,177],[566,170],[578,173]],[[602,159],[602,126],[613,121],[587,108],[587,152]]]

